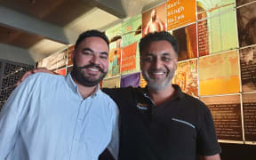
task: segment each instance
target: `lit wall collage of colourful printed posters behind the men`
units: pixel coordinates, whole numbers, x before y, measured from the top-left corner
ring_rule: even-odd
[[[167,0],[106,29],[108,75],[101,87],[146,85],[139,42],[166,30],[179,41],[172,80],[210,108],[220,142],[256,145],[256,0]],[[60,75],[72,70],[74,45],[38,62]]]

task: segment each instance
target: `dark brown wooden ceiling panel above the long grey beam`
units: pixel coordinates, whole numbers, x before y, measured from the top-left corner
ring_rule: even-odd
[[[60,27],[95,7],[81,0],[0,0],[0,4]]]

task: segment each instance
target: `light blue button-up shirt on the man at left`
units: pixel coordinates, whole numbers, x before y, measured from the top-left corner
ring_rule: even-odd
[[[34,74],[0,113],[0,160],[96,160],[107,147],[117,156],[117,118],[100,89],[84,100],[70,74]]]

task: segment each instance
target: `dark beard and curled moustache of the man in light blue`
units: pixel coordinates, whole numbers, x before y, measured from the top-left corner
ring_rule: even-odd
[[[78,67],[76,65],[76,61],[73,61],[73,70],[71,71],[71,76],[76,79],[77,83],[82,84],[87,87],[95,86],[97,84],[100,84],[100,81],[107,75],[107,72],[104,72],[103,68],[100,68],[100,66],[97,66],[95,64],[89,64],[83,67]],[[92,76],[85,76],[83,73],[84,68],[98,68],[100,70],[100,76],[98,78],[94,78]]]

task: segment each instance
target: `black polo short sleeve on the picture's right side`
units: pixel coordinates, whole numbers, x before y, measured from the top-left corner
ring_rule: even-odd
[[[210,110],[204,106],[203,127],[198,134],[197,151],[200,156],[213,156],[220,153],[220,145],[215,133],[215,127]]]

